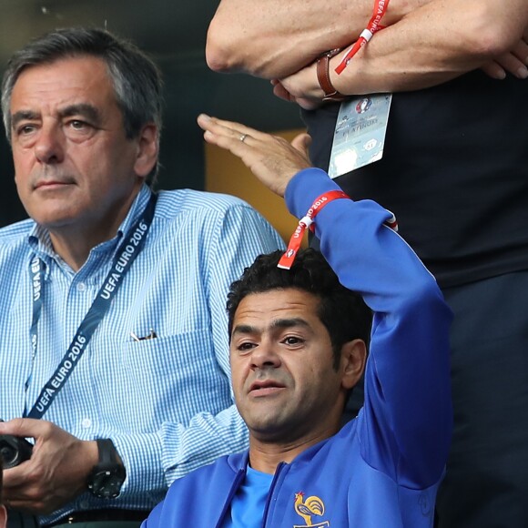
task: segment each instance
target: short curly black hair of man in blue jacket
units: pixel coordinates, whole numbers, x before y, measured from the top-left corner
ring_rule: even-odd
[[[359,293],[345,288],[322,254],[315,249],[301,250],[291,269],[277,267],[284,251],[260,255],[231,284],[228,293],[228,329],[233,330],[235,312],[241,300],[251,293],[273,289],[300,289],[319,299],[317,314],[328,330],[334,353],[334,368],[339,367],[341,347],[350,340],[364,340],[368,345],[372,312]]]

